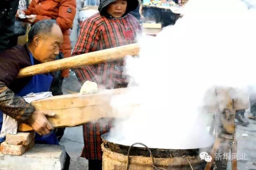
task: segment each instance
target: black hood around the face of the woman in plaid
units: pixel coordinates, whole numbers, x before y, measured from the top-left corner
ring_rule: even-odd
[[[100,15],[106,15],[106,7],[114,1],[116,0],[101,0],[98,8]],[[126,9],[125,15],[135,10],[138,7],[138,5],[139,5],[138,0],[127,0],[127,9]]]

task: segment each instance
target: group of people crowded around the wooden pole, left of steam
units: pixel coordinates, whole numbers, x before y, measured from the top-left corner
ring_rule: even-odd
[[[135,14],[138,13],[139,1],[101,0],[99,12],[82,22],[72,54],[69,35],[76,14],[75,0],[31,0],[30,3],[28,0],[3,0],[1,4],[0,130],[5,114],[18,122],[29,124],[37,132],[35,143],[59,145],[64,129],[54,129],[48,122],[46,116],[53,114],[36,110],[22,97],[31,92],[44,91],[62,95],[62,81],[69,76],[69,70],[17,79],[19,70],[63,57],[135,43],[141,27],[136,17],[129,13],[134,10]],[[15,34],[15,29],[20,32],[26,23],[31,25],[27,42],[23,46],[17,45],[20,33]],[[81,84],[90,80],[99,87],[111,89],[127,87],[123,69],[124,61],[117,60],[76,68],[74,71]],[[104,127],[90,122],[83,125],[84,149],[81,156],[89,160],[90,170],[102,169],[100,136],[110,128],[111,120]],[[2,141],[4,139],[0,139]],[[67,154],[65,169],[69,169],[69,163]]]

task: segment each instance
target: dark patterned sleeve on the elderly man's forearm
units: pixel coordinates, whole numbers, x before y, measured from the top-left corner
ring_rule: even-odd
[[[18,121],[27,121],[35,108],[0,82],[0,110]]]

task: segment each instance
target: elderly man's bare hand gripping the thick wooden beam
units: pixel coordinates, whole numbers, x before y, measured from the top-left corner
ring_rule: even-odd
[[[48,122],[46,116],[54,116],[55,113],[48,111],[34,111],[28,123],[39,135],[46,135],[54,130],[54,127]]]

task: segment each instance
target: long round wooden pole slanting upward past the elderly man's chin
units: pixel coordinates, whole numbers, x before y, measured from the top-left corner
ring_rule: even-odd
[[[27,77],[36,74],[48,73],[66,68],[77,68],[84,65],[93,65],[106,61],[113,61],[124,58],[127,55],[138,55],[139,44],[130,44],[90,53],[85,53],[73,57],[64,58],[52,62],[42,63],[23,68],[19,71],[17,78]]]

